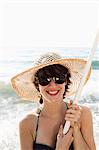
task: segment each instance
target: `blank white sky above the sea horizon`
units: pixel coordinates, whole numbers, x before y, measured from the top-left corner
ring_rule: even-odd
[[[98,0],[1,0],[0,50],[88,47],[99,27]]]

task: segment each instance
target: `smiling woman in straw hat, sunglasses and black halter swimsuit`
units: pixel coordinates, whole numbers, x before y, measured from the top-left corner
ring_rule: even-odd
[[[89,108],[67,103],[80,83],[86,61],[62,59],[56,53],[40,57],[36,66],[12,78],[12,86],[22,98],[39,100],[38,113],[20,122],[21,150],[95,150],[92,115]],[[87,76],[86,82],[90,76]],[[71,122],[63,134],[66,121]]]

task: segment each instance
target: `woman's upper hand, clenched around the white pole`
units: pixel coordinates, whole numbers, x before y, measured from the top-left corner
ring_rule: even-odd
[[[77,104],[73,104],[72,101],[70,101],[70,104],[68,105],[68,110],[66,111],[65,120],[71,122],[71,126],[80,127],[80,118],[81,118],[81,111],[82,108],[78,106]]]

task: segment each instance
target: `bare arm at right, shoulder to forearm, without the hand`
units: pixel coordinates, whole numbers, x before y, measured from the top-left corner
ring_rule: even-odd
[[[74,127],[74,148],[76,150],[96,150],[93,136],[92,114],[87,107],[83,108],[81,131]]]

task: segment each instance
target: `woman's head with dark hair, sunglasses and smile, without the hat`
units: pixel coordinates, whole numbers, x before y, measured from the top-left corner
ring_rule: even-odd
[[[39,69],[35,74],[35,86],[43,100],[55,102],[63,100],[69,83],[69,70],[62,65],[54,64]]]

